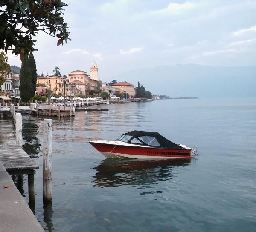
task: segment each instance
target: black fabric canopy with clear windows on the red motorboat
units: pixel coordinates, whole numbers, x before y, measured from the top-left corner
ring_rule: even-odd
[[[128,135],[128,136],[126,136]],[[122,140],[123,138],[128,137],[125,139],[127,143],[136,143],[141,145],[153,146],[153,147],[160,147],[160,148],[169,148],[169,149],[184,149],[183,147],[171,142],[170,140],[166,139],[162,135],[157,132],[147,132],[147,131],[131,131],[125,134],[122,134],[117,140]]]

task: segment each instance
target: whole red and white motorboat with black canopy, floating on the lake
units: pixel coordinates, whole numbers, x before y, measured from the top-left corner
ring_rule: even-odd
[[[107,158],[135,159],[190,159],[190,147],[172,143],[157,132],[131,131],[115,141],[91,140],[89,142]]]

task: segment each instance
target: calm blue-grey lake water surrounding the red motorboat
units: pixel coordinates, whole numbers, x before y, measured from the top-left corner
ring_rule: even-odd
[[[106,107],[101,106],[101,107]],[[35,215],[51,232],[255,232],[256,98],[111,104],[53,118],[52,206],[42,200],[43,117],[23,115]],[[13,138],[0,120],[2,141]],[[198,145],[191,161],[106,160],[88,141],[131,130]],[[27,177],[23,196],[28,201]]]

